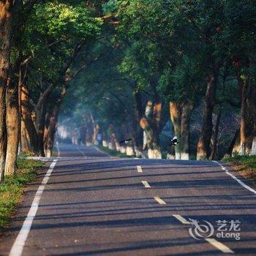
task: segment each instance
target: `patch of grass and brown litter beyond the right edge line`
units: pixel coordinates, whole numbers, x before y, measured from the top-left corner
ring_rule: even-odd
[[[236,154],[233,157],[225,157],[223,160],[256,184],[256,156]]]

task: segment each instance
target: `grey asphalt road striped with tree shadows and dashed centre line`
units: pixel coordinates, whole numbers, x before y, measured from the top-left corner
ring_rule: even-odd
[[[9,255],[22,226],[16,247],[23,255],[256,255],[256,195],[228,175],[246,183],[229,167],[225,172],[217,162],[118,159],[86,146],[59,146],[59,153],[56,165],[48,159],[27,187],[0,238],[1,255]],[[52,173],[42,181],[50,164]],[[37,192],[41,182],[44,190]],[[189,219],[200,221],[201,232]],[[217,237],[222,223],[227,230]]]

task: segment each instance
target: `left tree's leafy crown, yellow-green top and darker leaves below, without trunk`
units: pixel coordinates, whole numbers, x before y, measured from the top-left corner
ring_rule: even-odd
[[[49,84],[56,91],[64,83],[64,67],[76,45],[97,37],[102,20],[94,17],[81,1],[50,1],[36,4],[16,47],[29,61],[29,89],[34,102]],[[67,74],[72,75],[72,69]],[[58,97],[59,93],[51,94]]]

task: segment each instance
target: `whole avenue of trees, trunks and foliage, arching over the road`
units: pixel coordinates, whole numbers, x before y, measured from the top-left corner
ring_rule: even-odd
[[[7,12],[1,176],[19,144],[50,156],[57,124],[138,157],[255,154],[255,1],[28,0]]]

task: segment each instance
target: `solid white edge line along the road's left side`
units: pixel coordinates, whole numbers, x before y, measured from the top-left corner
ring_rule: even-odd
[[[38,187],[36,195],[34,196],[34,200],[29,209],[29,213],[26,219],[24,220],[22,227],[20,228],[20,232],[18,233],[18,236],[15,239],[14,244],[12,245],[12,249],[10,250],[9,256],[22,255],[23,247],[25,246],[25,243],[26,243],[26,238],[29,236],[29,231],[31,229],[32,222],[34,220],[34,217],[37,214],[37,209],[39,207],[39,201],[42,197],[42,192],[45,189],[45,185],[48,183],[48,179],[50,178],[50,175],[57,161],[58,159],[54,159],[53,162],[50,164],[50,167],[47,173],[45,173],[45,177],[43,178],[42,183]]]

